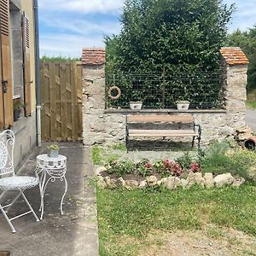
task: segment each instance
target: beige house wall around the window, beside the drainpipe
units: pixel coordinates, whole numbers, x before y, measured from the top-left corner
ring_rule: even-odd
[[[36,110],[35,110],[35,65],[33,49],[33,9],[32,0],[10,1],[10,32],[11,32],[11,50],[12,50],[12,79],[14,96],[20,96],[24,100],[24,80],[23,80],[23,49],[22,49],[22,29],[21,16],[23,11],[26,12],[30,20],[30,55],[31,55],[31,91],[32,91],[32,114],[24,116],[22,113],[20,119],[14,122],[12,130],[15,132],[15,170],[22,166],[32,149],[36,147],[37,127],[36,127]]]

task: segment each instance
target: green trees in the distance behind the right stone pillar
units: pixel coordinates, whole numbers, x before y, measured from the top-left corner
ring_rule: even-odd
[[[236,30],[228,37],[230,46],[239,46],[249,59],[247,90],[256,90],[256,26],[246,32]]]

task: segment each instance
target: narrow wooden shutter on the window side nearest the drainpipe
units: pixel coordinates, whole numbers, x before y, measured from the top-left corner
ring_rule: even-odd
[[[29,41],[29,20],[24,13],[22,17],[23,34],[23,78],[24,78],[24,102],[26,105],[26,116],[32,113],[32,92],[31,92],[31,69],[30,69],[30,41]]]

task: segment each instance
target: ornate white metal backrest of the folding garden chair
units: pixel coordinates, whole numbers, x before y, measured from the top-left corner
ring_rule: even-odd
[[[15,134],[11,130],[0,133],[0,177],[3,174],[14,174]]]

